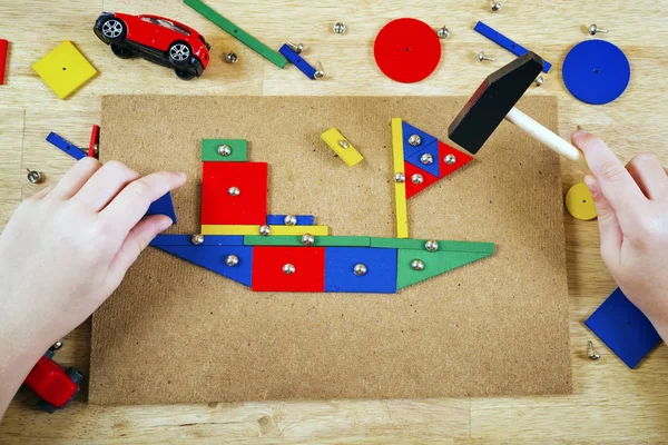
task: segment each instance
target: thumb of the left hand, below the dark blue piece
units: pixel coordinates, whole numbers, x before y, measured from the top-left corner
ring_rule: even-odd
[[[110,286],[118,286],[126,270],[135,263],[141,250],[160,231],[171,226],[173,221],[165,215],[151,215],[140,220],[128,234],[120,249],[109,265]]]

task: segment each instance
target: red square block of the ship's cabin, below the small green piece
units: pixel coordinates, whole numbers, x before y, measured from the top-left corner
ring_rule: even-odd
[[[266,162],[202,162],[203,225],[264,225]]]

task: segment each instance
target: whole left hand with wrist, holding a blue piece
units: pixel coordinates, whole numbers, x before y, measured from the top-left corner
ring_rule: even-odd
[[[0,417],[37,359],[90,316],[173,224],[143,217],[185,181],[183,174],[140,177],[120,162],[84,158],[19,206],[0,236]]]

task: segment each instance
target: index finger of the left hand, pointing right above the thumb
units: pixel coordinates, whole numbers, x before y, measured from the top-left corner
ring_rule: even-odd
[[[111,202],[100,211],[106,226],[129,233],[148,210],[148,207],[167,191],[184,185],[186,176],[158,171],[128,184]]]

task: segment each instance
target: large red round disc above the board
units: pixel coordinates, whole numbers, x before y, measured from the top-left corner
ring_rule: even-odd
[[[426,79],[441,61],[436,32],[416,19],[396,19],[385,24],[373,46],[376,65],[392,80],[404,83]]]

